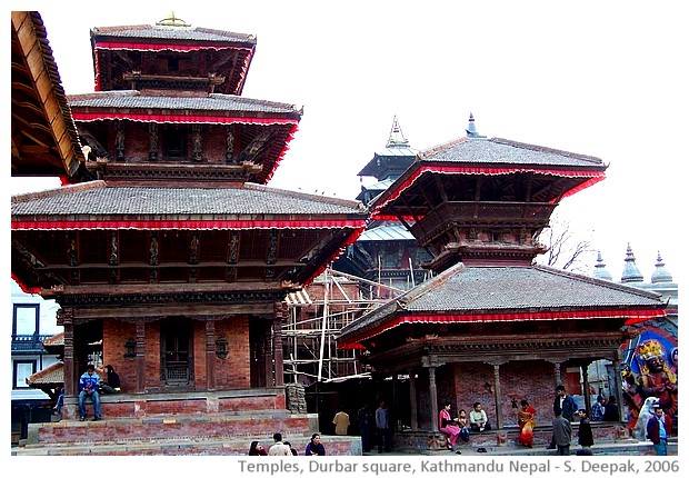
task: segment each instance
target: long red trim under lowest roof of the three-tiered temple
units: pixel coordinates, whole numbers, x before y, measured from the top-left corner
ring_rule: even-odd
[[[340,229],[366,227],[365,219],[282,219],[282,220],[83,220],[13,221],[12,230],[93,230],[93,229]],[[361,231],[359,231],[361,233]]]

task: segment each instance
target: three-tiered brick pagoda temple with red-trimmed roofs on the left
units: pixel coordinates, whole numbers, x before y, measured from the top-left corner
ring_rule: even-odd
[[[58,168],[63,187],[11,205],[12,277],[54,299],[64,327],[62,431],[41,427],[39,445],[109,440],[110,419],[130,419],[116,438],[317,431],[283,384],[284,298],[357,239],[367,209],[267,186],[302,110],[241,96],[254,36],[170,14],[93,28],[91,47],[96,91],[66,108],[83,158]],[[89,362],[113,366],[122,392],[66,432]],[[161,416],[173,425],[142,421]]]

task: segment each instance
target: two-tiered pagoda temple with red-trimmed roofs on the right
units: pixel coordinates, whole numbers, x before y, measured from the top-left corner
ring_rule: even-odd
[[[605,178],[600,159],[483,137],[472,116],[466,131],[419,152],[369,205],[372,220],[399,220],[432,252],[436,276],[338,337],[363,347],[376,372],[406,380],[392,409],[412,431],[438,431],[445,400],[479,401],[502,428],[527,398],[549,422],[559,384],[588,408],[588,365],[619,366],[626,326],[666,315],[657,293],[533,262],[562,198]]]

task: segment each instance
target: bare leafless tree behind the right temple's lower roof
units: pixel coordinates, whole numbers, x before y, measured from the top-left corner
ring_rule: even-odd
[[[552,215],[550,225],[536,239],[548,248],[548,252],[537,257],[537,263],[588,273],[596,261],[591,231],[573,228],[569,219],[558,213]]]

